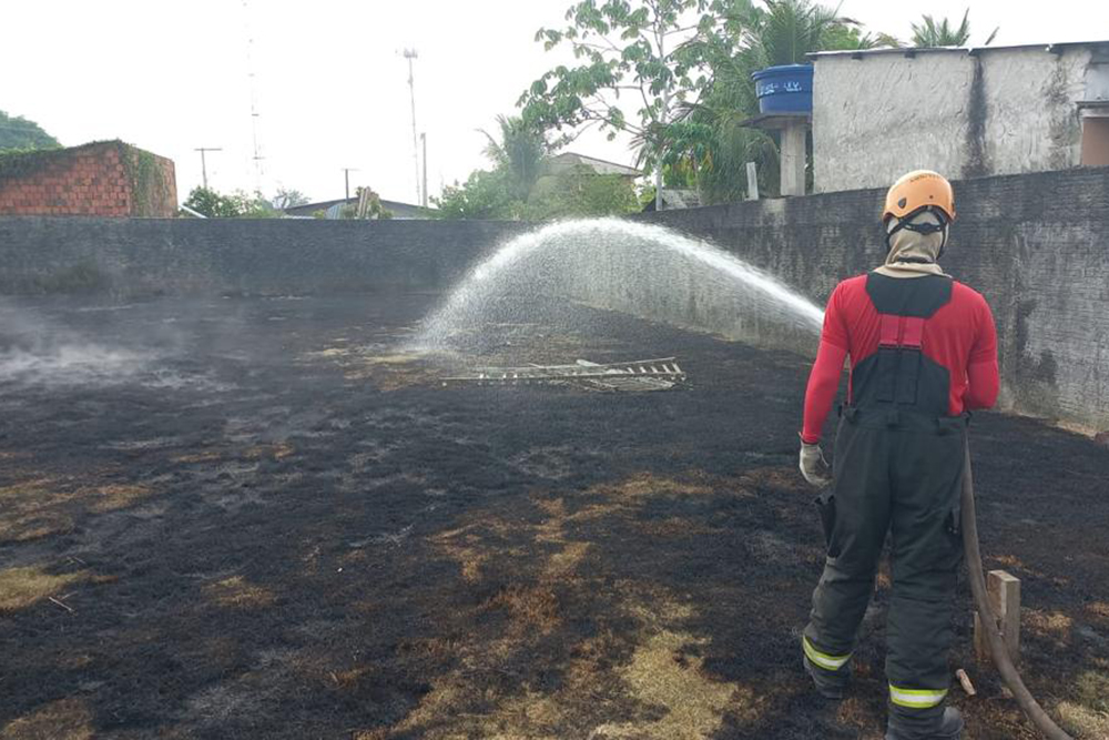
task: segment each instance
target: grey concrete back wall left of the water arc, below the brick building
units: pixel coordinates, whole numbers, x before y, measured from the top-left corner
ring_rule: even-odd
[[[441,291],[525,230],[480,221],[0,217],[0,295]]]

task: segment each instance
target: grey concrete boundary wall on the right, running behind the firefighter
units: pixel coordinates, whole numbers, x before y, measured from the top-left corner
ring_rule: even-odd
[[[824,302],[840,280],[881,263],[884,194],[650,217],[709,239]],[[1109,169],[973,180],[956,183],[956,196],[959,220],[944,265],[994,310],[1003,407],[1109,428]],[[706,328],[730,333],[725,321]]]

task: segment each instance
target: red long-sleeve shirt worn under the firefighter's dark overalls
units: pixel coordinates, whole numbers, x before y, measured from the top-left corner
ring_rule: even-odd
[[[916,278],[905,278],[916,280]],[[821,439],[832,408],[844,358],[854,368],[878,349],[881,320],[866,293],[866,275],[840,283],[828,298],[816,362],[805,391],[805,418],[801,437]],[[950,377],[948,413],[989,408],[997,401],[997,328],[986,300],[953,281],[952,298],[924,322],[920,352],[947,368]],[[848,403],[851,386],[848,383]]]

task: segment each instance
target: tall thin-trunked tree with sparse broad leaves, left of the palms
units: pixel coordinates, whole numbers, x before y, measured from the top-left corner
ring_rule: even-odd
[[[561,30],[540,29],[548,51],[567,45],[580,63],[559,65],[520,98],[523,119],[540,129],[580,132],[598,125],[632,135],[639,164],[661,191],[667,133],[676,107],[704,84],[686,42],[704,24],[709,0],[581,0]],[[622,95],[637,105],[628,118]],[[661,197],[661,192],[659,194]]]

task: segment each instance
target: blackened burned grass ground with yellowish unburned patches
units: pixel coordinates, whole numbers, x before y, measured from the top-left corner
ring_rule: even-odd
[[[454,362],[689,381],[444,386],[404,349],[431,302],[6,307],[0,738],[881,737],[885,577],[851,698],[801,670],[802,359],[572,308]],[[990,414],[973,439],[1026,680],[1109,737],[1109,450]],[[1034,738],[964,607],[967,736]]]

